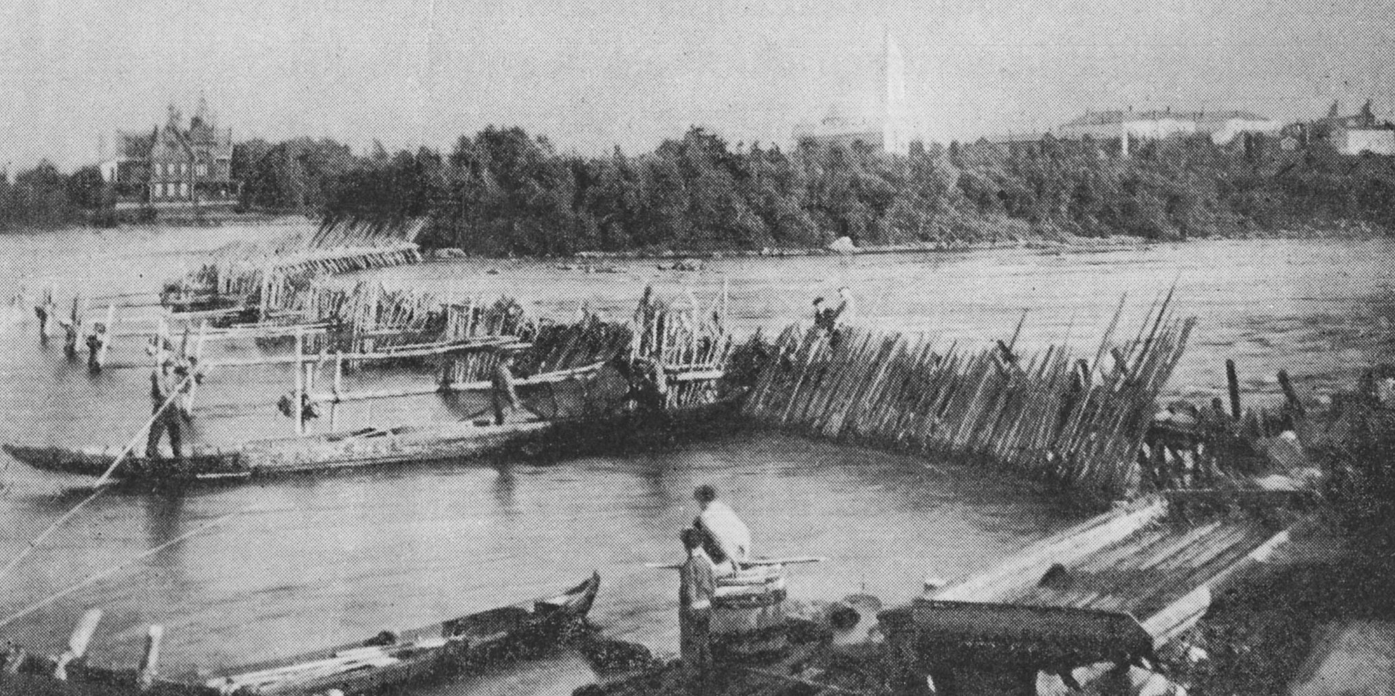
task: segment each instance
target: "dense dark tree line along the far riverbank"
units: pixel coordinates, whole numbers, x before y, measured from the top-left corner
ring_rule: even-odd
[[[448,152],[354,155],[331,139],[241,142],[246,209],[326,219],[430,219],[424,243],[478,254],[759,250],[1131,234],[1151,240],[1279,232],[1332,220],[1395,229],[1395,158],[1274,137],[1117,144],[854,144],[784,151],[691,128],[653,152],[559,153],[490,127]],[[93,180],[93,177],[96,177]],[[102,199],[92,167],[40,165],[0,184],[0,229],[70,223]]]

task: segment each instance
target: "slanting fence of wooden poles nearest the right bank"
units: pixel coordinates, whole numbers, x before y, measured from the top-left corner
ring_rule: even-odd
[[[820,437],[982,456],[1088,501],[1126,498],[1141,492],[1136,455],[1196,324],[1175,318],[1170,300],[1155,303],[1133,340],[1116,342],[1120,301],[1089,363],[1067,346],[1024,357],[1003,342],[971,350],[791,326],[745,410]]]

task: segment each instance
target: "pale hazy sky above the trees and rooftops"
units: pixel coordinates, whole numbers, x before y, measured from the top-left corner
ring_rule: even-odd
[[[887,29],[933,139],[1126,106],[1388,113],[1392,17],[1395,0],[0,0],[0,166],[93,160],[103,133],[199,93],[237,139],[449,146],[516,124],[639,152],[699,124],[785,144],[876,95]]]

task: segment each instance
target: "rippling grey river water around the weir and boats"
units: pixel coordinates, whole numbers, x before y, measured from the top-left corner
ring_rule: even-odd
[[[66,303],[148,290],[223,243],[285,227],[149,229],[0,237],[0,293],[49,283]],[[1211,396],[1236,358],[1249,399],[1272,399],[1286,368],[1303,392],[1346,385],[1391,350],[1389,241],[1193,241],[1101,252],[999,250],[851,258],[713,259],[702,272],[656,262],[604,262],[618,272],[557,264],[458,259],[374,272],[391,286],[453,294],[508,293],[559,319],[583,305],[628,314],[646,285],[706,304],[725,286],[741,332],[802,318],[812,297],[848,286],[857,321],[933,332],[963,343],[1010,333],[1020,345],[1067,340],[1092,354],[1120,297],[1136,331],[1144,310],[1176,283],[1179,312],[1200,324],[1173,378],[1173,395]],[[497,273],[491,273],[497,271]],[[345,282],[361,278],[347,276]],[[138,339],[113,347],[112,368],[89,377],[40,346],[32,315],[0,321],[0,439],[123,444],[149,413]],[[254,356],[215,345],[208,360]],[[377,382],[427,379],[375,374]],[[271,406],[287,371],[215,371],[201,388],[195,438],[229,442],[285,435]],[[371,402],[349,425],[459,416],[434,396]],[[11,558],[81,494],[84,480],[38,473],[0,455],[0,558]],[[410,628],[548,594],[593,569],[603,577],[593,619],[607,635],[658,653],[677,650],[675,579],[643,568],[672,561],[677,531],[695,515],[691,491],[710,483],[746,517],[756,551],[820,555],[791,573],[791,594],[837,600],[865,589],[887,601],[914,596],[926,575],[988,568],[1074,522],[1030,485],[956,462],[926,460],[738,432],[626,457],[551,466],[485,462],[400,471],[222,487],[181,495],[99,498],[11,575],[0,577],[10,615],[84,577],[246,509],[49,608],[0,628],[59,651],[89,607],[107,616],[98,663],[134,664],[145,626],[166,626],[166,664],[216,668]],[[590,679],[572,654],[462,678],[423,693],[569,693]]]

